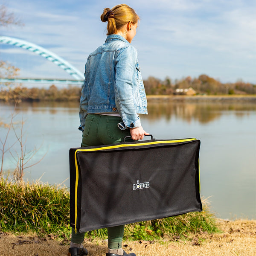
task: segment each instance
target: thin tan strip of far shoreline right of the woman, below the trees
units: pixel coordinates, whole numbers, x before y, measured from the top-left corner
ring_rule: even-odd
[[[173,102],[255,102],[256,95],[147,95],[147,100]]]

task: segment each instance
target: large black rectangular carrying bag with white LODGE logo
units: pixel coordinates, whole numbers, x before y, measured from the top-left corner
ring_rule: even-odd
[[[202,210],[200,140],[70,148],[70,226],[79,232]]]

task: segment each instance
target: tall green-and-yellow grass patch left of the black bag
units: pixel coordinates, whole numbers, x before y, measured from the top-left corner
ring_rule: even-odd
[[[36,233],[68,232],[69,192],[41,183],[0,180],[0,229]]]

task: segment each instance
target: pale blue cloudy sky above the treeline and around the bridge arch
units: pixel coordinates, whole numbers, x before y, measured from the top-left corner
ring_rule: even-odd
[[[113,0],[0,0],[23,26],[0,27],[0,35],[44,47],[84,73],[90,52],[103,44],[104,8]],[[223,83],[256,84],[255,0],[129,0],[140,16],[137,49],[143,79],[175,81],[206,74]],[[0,44],[0,59],[20,68],[21,78],[73,79],[25,49]]]

